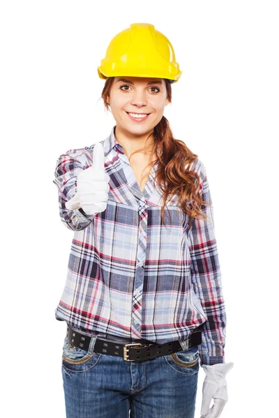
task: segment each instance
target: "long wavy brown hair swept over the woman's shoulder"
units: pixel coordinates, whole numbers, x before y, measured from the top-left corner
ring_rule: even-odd
[[[101,95],[106,111],[110,111],[107,96],[110,96],[110,88],[112,87],[113,81],[114,77],[108,77],[105,80],[105,86],[103,87]],[[171,84],[172,80],[165,79],[167,99],[169,102],[172,102]],[[156,151],[157,160],[151,161],[146,167],[158,162],[155,179],[157,180],[158,187],[163,196],[163,206],[161,210],[161,220],[163,224],[165,225],[163,215],[167,199],[169,199],[169,196],[172,198],[174,195],[178,196],[177,206],[180,206],[181,210],[188,214],[190,226],[194,218],[206,219],[207,216],[202,212],[202,206],[210,204],[210,202],[202,200],[202,194],[199,191],[199,175],[195,173],[195,171],[186,169],[186,166],[190,167],[190,164],[197,160],[197,154],[192,153],[183,141],[174,138],[169,126],[169,121],[167,121],[165,116],[163,116],[160,122],[153,128],[151,134],[153,134],[153,144],[151,144],[149,148],[144,146],[143,148],[134,151],[130,157],[143,150],[150,152],[150,155],[154,155]],[[146,141],[151,134],[146,138]],[[149,173],[143,178],[148,176]]]

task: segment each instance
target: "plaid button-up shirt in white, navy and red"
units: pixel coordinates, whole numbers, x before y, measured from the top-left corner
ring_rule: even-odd
[[[202,364],[225,362],[226,313],[213,212],[194,219],[167,204],[160,220],[160,194],[153,166],[144,191],[135,179],[114,127],[102,141],[110,176],[107,208],[96,215],[67,210],[76,192],[77,174],[92,164],[93,147],[68,150],[56,162],[54,184],[63,224],[74,231],[68,274],[55,318],[84,334],[156,343],[187,339],[202,330]],[[190,167],[200,176],[202,198],[211,201],[202,162]],[[211,222],[212,221],[212,222]],[[117,337],[117,338],[116,338]]]

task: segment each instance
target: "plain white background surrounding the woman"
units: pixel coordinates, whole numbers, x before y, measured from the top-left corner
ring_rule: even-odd
[[[6,1],[1,42],[1,410],[66,417],[65,323],[54,319],[73,232],[59,219],[56,159],[110,134],[97,66],[146,22],[183,71],[165,116],[206,167],[227,308],[221,417],[271,417],[278,384],[278,2]],[[202,403],[199,370],[196,415]],[[3,390],[3,389],[2,389]],[[147,418],[147,417],[146,417]]]

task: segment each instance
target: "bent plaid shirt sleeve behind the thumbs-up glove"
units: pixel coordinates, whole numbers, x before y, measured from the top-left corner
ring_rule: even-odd
[[[68,210],[66,202],[77,192],[77,175],[86,167],[78,159],[77,150],[69,150],[56,161],[53,183],[58,189],[59,215],[63,225],[73,231],[81,231],[92,222],[96,214],[87,215],[82,208]]]

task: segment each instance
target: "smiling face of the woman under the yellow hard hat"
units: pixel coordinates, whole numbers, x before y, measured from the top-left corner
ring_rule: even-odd
[[[126,76],[114,78],[107,102],[116,125],[135,135],[153,130],[160,122],[165,106],[169,104],[164,79]],[[143,117],[133,118],[133,114],[142,114]]]

